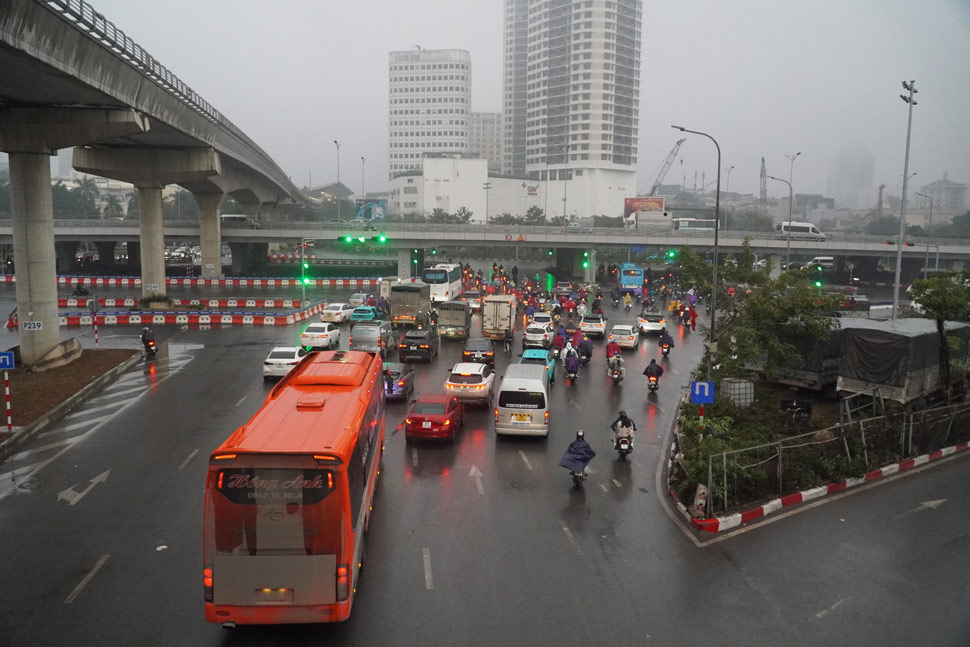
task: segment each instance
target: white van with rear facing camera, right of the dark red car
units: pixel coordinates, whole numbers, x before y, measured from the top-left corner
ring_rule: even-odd
[[[549,435],[549,373],[545,366],[509,366],[495,405],[495,433]]]

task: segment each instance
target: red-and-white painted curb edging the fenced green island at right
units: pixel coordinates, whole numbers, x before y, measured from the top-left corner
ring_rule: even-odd
[[[744,510],[742,512],[735,512],[733,514],[725,515],[723,517],[710,517],[708,519],[697,519],[692,517],[687,511],[687,506],[680,502],[677,497],[677,493],[673,488],[669,489],[670,497],[674,500],[677,505],[677,509],[686,519],[688,519],[692,526],[702,532],[718,533],[725,530],[731,530],[732,528],[737,528],[738,526],[755,521],[756,519],[761,519],[769,514],[777,512],[788,506],[795,505],[797,503],[805,503],[807,501],[812,501],[814,499],[820,499],[826,497],[830,494],[837,494],[839,492],[844,492],[850,488],[864,485],[866,483],[871,483],[873,481],[879,480],[884,476],[892,476],[894,474],[899,474],[907,470],[913,469],[915,467],[920,467],[933,461],[938,461],[941,458],[946,458],[947,456],[953,456],[960,452],[966,451],[970,448],[970,442],[960,443],[958,445],[951,445],[950,447],[945,447],[943,449],[937,449],[936,451],[930,452],[928,454],[921,454],[920,456],[915,456],[913,458],[907,458],[906,460],[899,461],[897,463],[892,463],[885,467],[872,470],[871,472],[866,472],[862,476],[855,478],[846,479],[844,481],[839,481],[838,483],[829,483],[828,485],[820,485],[818,487],[810,488],[808,490],[802,490],[800,492],[795,492],[793,494],[788,494],[783,497],[778,497],[771,499],[770,501],[763,503],[760,506]]]

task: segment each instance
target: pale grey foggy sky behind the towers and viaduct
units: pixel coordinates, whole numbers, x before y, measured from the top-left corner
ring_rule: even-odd
[[[94,0],[96,10],[266,150],[298,186],[387,186],[388,52],[420,45],[472,57],[472,109],[502,102],[502,0]],[[907,106],[911,186],[970,184],[968,0],[645,0],[638,187],[674,142],[710,133],[730,189],[769,175],[822,193],[843,148],[868,151],[874,183],[901,184]],[[687,135],[666,183],[716,173],[709,140]],[[699,182],[700,180],[698,180]],[[722,179],[722,190],[727,176]],[[898,191],[898,189],[897,189]],[[787,194],[769,181],[769,195]]]

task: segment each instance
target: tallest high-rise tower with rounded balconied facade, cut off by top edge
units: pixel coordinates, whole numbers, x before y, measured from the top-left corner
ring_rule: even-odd
[[[618,215],[635,195],[641,4],[505,1],[504,170],[566,182],[567,215]]]

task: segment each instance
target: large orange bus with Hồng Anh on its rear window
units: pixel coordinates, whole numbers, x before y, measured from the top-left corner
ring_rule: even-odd
[[[350,616],[384,452],[381,366],[376,353],[310,353],[211,454],[206,620]]]

